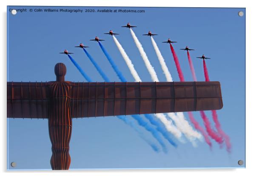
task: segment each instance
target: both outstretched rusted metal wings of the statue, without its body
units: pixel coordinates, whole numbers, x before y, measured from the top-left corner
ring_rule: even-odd
[[[7,117],[48,118],[53,82],[7,82]],[[72,118],[222,108],[219,82],[65,82]]]

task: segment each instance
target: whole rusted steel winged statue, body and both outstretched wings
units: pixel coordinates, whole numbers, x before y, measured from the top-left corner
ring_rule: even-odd
[[[7,82],[7,118],[48,118],[51,168],[68,170],[72,118],[218,110],[219,82]]]

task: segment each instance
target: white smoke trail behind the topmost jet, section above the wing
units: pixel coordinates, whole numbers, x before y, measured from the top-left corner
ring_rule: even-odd
[[[156,81],[156,82],[159,82],[159,80],[156,76],[156,71],[151,66],[151,63],[148,60],[148,56],[146,55],[145,51],[143,50],[142,44],[140,44],[139,39],[136,37],[134,31],[131,28],[130,28],[130,31],[131,31],[131,36],[133,37],[134,42],[135,42],[137,48],[139,49],[139,53],[140,53],[143,61],[145,62],[145,65],[146,65],[146,67],[147,67],[147,69],[148,69],[148,71],[151,75],[151,79]]]

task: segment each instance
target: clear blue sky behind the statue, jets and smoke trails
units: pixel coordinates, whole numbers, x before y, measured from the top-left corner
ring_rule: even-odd
[[[134,44],[128,29],[120,27],[130,22],[139,41],[151,61],[160,81],[165,81],[156,53],[147,36],[151,30],[157,33],[154,39],[171,71],[174,81],[179,81],[174,59],[168,44],[162,43],[171,38],[179,57],[186,81],[193,81],[185,51],[191,51],[198,81],[204,81],[202,60],[196,57],[205,54],[210,80],[222,85],[224,107],[218,110],[222,129],[230,136],[232,152],[225,146],[211,140],[210,150],[205,142],[198,142],[194,148],[190,142],[169,145],[168,153],[156,153],[142,140],[137,132],[116,117],[73,119],[70,142],[70,169],[88,168],[230,168],[244,167],[237,164],[245,161],[245,16],[238,16],[244,8],[118,8],[118,7],[49,7],[51,9],[82,9],[82,13],[34,12],[34,9],[48,7],[9,7],[26,8],[15,16],[8,13],[8,81],[52,81],[55,80],[54,65],[65,63],[65,80],[82,82],[85,79],[71,63],[67,55],[59,52],[67,49],[74,52],[72,57],[80,64],[93,81],[103,82],[85,53],[75,48],[82,42],[89,46],[88,52],[97,60],[111,81],[119,81],[97,42],[89,41],[95,36],[105,39],[102,44],[122,70],[128,81],[134,81],[113,38],[103,33],[114,30],[117,39],[134,63],[142,81],[151,81],[145,64]],[[33,9],[29,12],[29,9]],[[85,12],[85,9],[145,10],[145,13],[100,13]],[[9,11],[9,10],[7,10]],[[203,126],[198,112],[193,113]],[[213,124],[210,111],[206,111]],[[185,113],[188,118],[187,113]],[[127,116],[127,118],[131,118]],[[142,118],[144,118],[142,116]],[[131,118],[132,120],[132,118]],[[48,135],[48,120],[8,119],[8,168],[9,169],[51,169],[51,142]],[[156,143],[149,132],[139,127],[146,137]],[[173,137],[174,138],[174,137]],[[17,167],[11,168],[10,163]]]

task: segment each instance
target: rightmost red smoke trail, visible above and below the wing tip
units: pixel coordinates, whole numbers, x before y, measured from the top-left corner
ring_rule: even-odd
[[[204,63],[205,81],[210,81],[209,74],[208,74],[208,69],[207,69],[205,60],[203,60],[203,63]],[[216,110],[212,110],[211,112],[212,112],[213,121],[215,123],[215,127],[216,127],[219,135],[221,135],[221,137],[224,138],[224,141],[225,141],[225,144],[226,144],[226,147],[227,147],[227,151],[231,152],[231,143],[230,143],[229,136],[226,135],[225,132],[221,129]]]

